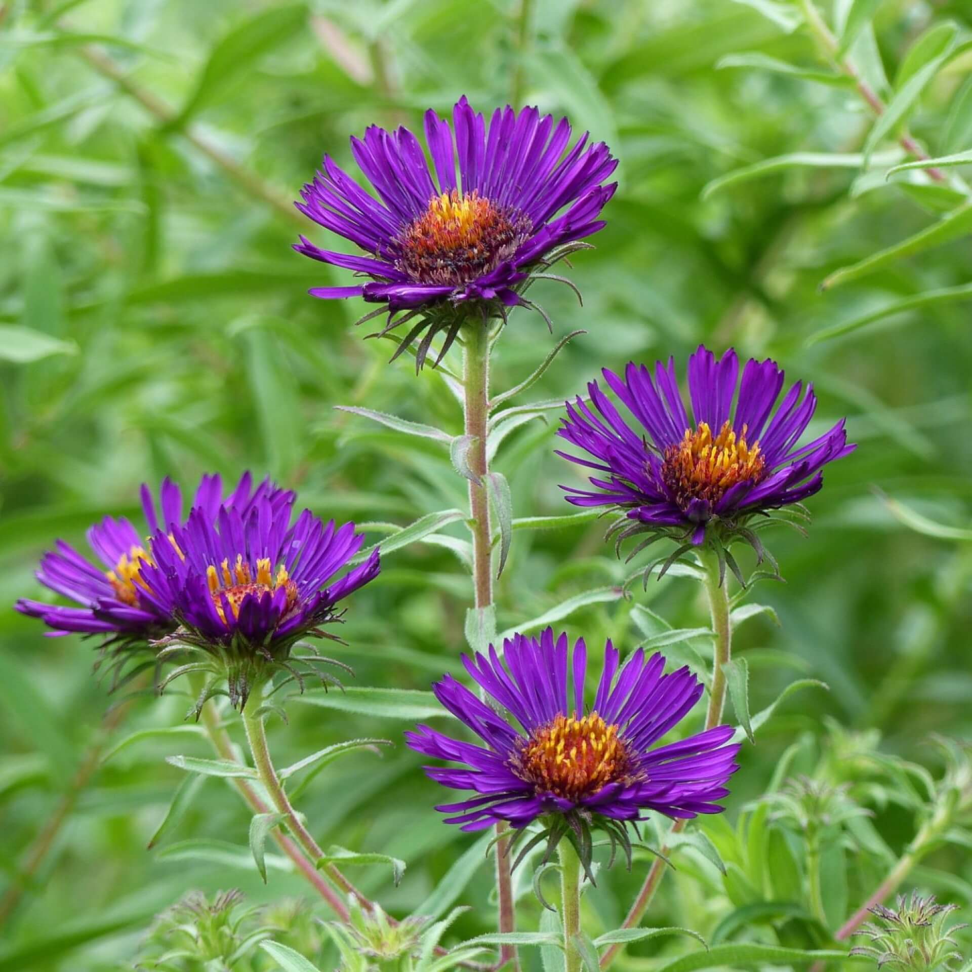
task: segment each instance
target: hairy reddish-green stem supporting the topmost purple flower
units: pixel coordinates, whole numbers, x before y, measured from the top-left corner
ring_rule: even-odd
[[[490,531],[489,494],[486,476],[489,472],[486,459],[486,433],[489,422],[489,325],[471,318],[464,334],[463,385],[465,390],[465,432],[469,436],[467,463],[469,471],[478,481],[469,480],[469,529],[472,531],[472,586],[477,620],[483,621],[484,612],[493,608],[493,539]],[[513,902],[513,879],[509,867],[508,840],[503,834],[508,824],[496,827],[496,885],[500,905],[500,931],[516,928]],[[519,969],[515,945],[503,945],[500,964]]]

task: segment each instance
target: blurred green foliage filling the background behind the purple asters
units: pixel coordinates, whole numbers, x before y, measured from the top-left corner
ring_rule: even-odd
[[[364,341],[368,325],[352,328],[364,307],[306,294],[350,281],[291,251],[298,232],[333,245],[291,200],[325,151],[351,166],[348,135],[368,124],[414,127],[426,107],[446,112],[462,93],[487,112],[508,100],[538,104],[608,141],[620,189],[597,250],[574,259],[583,308],[566,288],[539,282],[532,295],[555,333],[514,313],[494,388],[522,380],[578,328],[587,332],[523,401],[580,394],[601,366],[683,363],[700,341],[735,345],[813,381],[812,432],[847,415],[860,443],[827,470],[809,538],[766,535],[787,583],[760,584],[753,596],[781,625],[764,612],[738,634],[750,707],[764,709],[794,677],[821,679],[829,692],[794,695],[745,747],[730,820],[768,788],[794,741],[794,771],[811,772],[821,747],[833,752],[825,719],[878,730],[885,752],[935,768],[926,739],[967,733],[972,693],[972,226],[961,208],[967,170],[946,170],[943,183],[920,169],[885,175],[908,160],[896,142],[905,122],[931,156],[972,149],[972,61],[962,47],[972,11],[959,0],[851,8],[863,17],[851,53],[895,106],[884,130],[820,59],[800,6],[784,0],[536,0],[526,21],[516,0],[0,4],[0,603],[37,596],[32,571],[53,538],[81,544],[106,513],[138,516],[138,484],[165,474],[190,483],[206,470],[270,472],[315,512],[371,524],[369,542],[464,508],[465,480],[441,443],[334,410],[462,431],[440,376],[427,368],[416,378],[407,358],[387,365],[394,346]],[[829,6],[823,13],[833,22]],[[777,161],[760,164],[767,159]],[[902,259],[833,277],[949,213],[951,229],[920,236]],[[904,309],[885,313],[898,302]],[[846,335],[814,340],[844,325]],[[500,445],[514,517],[571,512],[558,483],[577,481],[578,470],[553,454],[557,414],[539,413]],[[875,488],[932,521],[911,517],[924,535]],[[652,579],[646,593],[636,583],[621,598],[632,568],[602,543],[602,524],[527,526],[514,529],[497,588],[498,630],[565,602],[574,609],[558,623],[626,650],[664,630],[652,612],[677,629],[708,623],[701,589],[683,577]],[[335,651],[355,684],[427,689],[461,671],[469,571],[454,540],[466,536],[451,523],[389,553],[354,598],[342,630],[349,646]],[[667,650],[701,666],[708,642]],[[112,704],[90,677],[92,658],[89,643],[45,639],[36,622],[0,611],[0,890],[21,881]],[[180,725],[187,704],[177,691],[160,701],[143,693],[113,740]],[[315,835],[403,859],[398,887],[385,868],[355,870],[399,915],[466,862],[469,884],[450,879],[436,900],[473,906],[455,926],[462,937],[491,930],[490,867],[481,851],[461,856],[473,842],[441,823],[432,810],[441,792],[401,745],[412,703],[366,707],[315,694],[289,705],[289,728],[271,721],[282,764],[351,737],[396,744],[338,760],[307,783],[299,806]],[[425,717],[425,703],[417,708]],[[211,755],[191,730],[145,737],[74,794],[0,931],[0,969],[125,967],[152,916],[191,887],[239,886],[254,902],[305,893],[270,851],[261,883],[249,816],[224,781],[206,779],[146,850],[186,779],[164,762],[174,752]],[[862,802],[876,814],[877,849],[846,841],[827,861],[831,930],[881,878],[881,846],[899,853],[914,833],[907,807],[871,796]],[[783,829],[753,849],[765,814],[749,823],[750,856],[730,865],[735,884],[679,855],[648,923],[711,936],[735,909],[798,899],[799,874],[786,894],[760,871],[777,867]],[[731,860],[740,848],[727,828],[719,821],[709,832]],[[595,934],[620,924],[648,859],[632,875],[616,867],[586,896]],[[934,851],[922,868],[918,885],[970,904],[967,851]],[[519,879],[521,914],[536,928],[542,909],[529,879]],[[746,916],[724,935],[777,944],[765,925],[745,925]],[[795,944],[824,947],[806,935]],[[652,940],[622,961],[648,968],[647,956],[686,948]],[[538,950],[525,954],[538,962]]]

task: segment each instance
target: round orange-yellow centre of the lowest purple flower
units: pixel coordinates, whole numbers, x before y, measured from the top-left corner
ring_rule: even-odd
[[[558,715],[536,730],[511,761],[521,780],[539,792],[578,800],[612,782],[640,779],[632,759],[618,738],[618,727],[597,712],[582,718]]]

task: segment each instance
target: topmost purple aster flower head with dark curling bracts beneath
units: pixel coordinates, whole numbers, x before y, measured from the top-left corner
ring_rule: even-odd
[[[325,156],[296,204],[367,254],[322,250],[301,236],[298,253],[369,278],[310,293],[381,304],[363,320],[387,310],[382,333],[419,317],[399,345],[400,353],[426,332],[419,366],[434,334],[445,332],[441,359],[472,313],[504,319],[507,308],[537,308],[523,295],[527,284],[605,226],[601,210],[616,188],[605,182],[617,166],[586,134],[568,148],[570,123],[536,108],[507,105],[487,123],[463,97],[451,126],[428,111],[425,135],[431,165],[406,128],[372,125],[351,150],[374,194]]]

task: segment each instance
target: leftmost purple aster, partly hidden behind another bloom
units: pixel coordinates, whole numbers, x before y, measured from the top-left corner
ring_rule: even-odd
[[[148,486],[142,486],[142,508],[148,529],[164,535],[183,520],[182,490],[166,477],[158,492],[158,503]],[[254,503],[273,505],[292,503],[294,494],[264,479],[254,487],[246,472],[226,495],[223,480],[204,475],[199,481],[192,507],[200,515],[215,518],[221,503],[245,513]],[[21,599],[18,611],[40,618],[52,630],[51,636],[80,633],[100,637],[109,656],[123,664],[124,659],[149,642],[171,634],[175,623],[148,596],[143,571],[152,563],[149,542],[125,517],[106,516],[87,531],[87,542],[96,561],[79,553],[64,540],[41,560],[37,579],[69,601],[73,607]],[[121,664],[116,668],[116,677]]]

